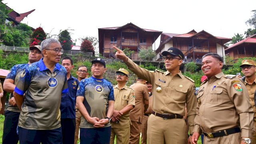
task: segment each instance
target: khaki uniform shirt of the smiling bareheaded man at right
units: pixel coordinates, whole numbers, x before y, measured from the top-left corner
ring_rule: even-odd
[[[200,86],[197,97],[193,132],[210,133],[240,126],[242,137],[252,137],[254,113],[242,80],[220,72]]]

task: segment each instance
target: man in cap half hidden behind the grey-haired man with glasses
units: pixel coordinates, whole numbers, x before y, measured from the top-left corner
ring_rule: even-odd
[[[4,112],[4,129],[3,129],[3,144],[18,144],[19,137],[17,134],[18,120],[20,116],[20,109],[16,105],[16,101],[13,97],[14,88],[19,81],[20,75],[23,70],[34,62],[39,61],[42,58],[41,46],[30,46],[30,52],[28,55],[27,64],[16,64],[10,70],[10,73],[6,76],[3,84],[3,88],[6,92],[10,92],[9,104]]]

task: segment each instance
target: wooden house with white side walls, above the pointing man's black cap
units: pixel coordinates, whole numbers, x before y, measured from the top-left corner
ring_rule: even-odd
[[[202,62],[202,56],[209,52],[216,52],[220,56],[224,56],[224,44],[232,40],[231,38],[222,38],[213,36],[202,30],[196,32],[191,30],[186,34],[162,33],[160,37],[160,45],[156,50],[158,58],[159,54],[170,47],[180,49],[184,54],[184,62]]]

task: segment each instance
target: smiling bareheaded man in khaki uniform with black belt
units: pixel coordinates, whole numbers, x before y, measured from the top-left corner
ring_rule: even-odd
[[[197,96],[192,143],[196,144],[203,132],[204,144],[250,144],[254,114],[244,83],[223,74],[223,60],[218,54],[208,53],[202,58],[201,69],[207,79]]]

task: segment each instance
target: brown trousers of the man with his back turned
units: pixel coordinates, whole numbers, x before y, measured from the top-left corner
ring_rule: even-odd
[[[140,132],[141,132],[141,123],[131,121],[129,144],[139,144],[140,143]]]

